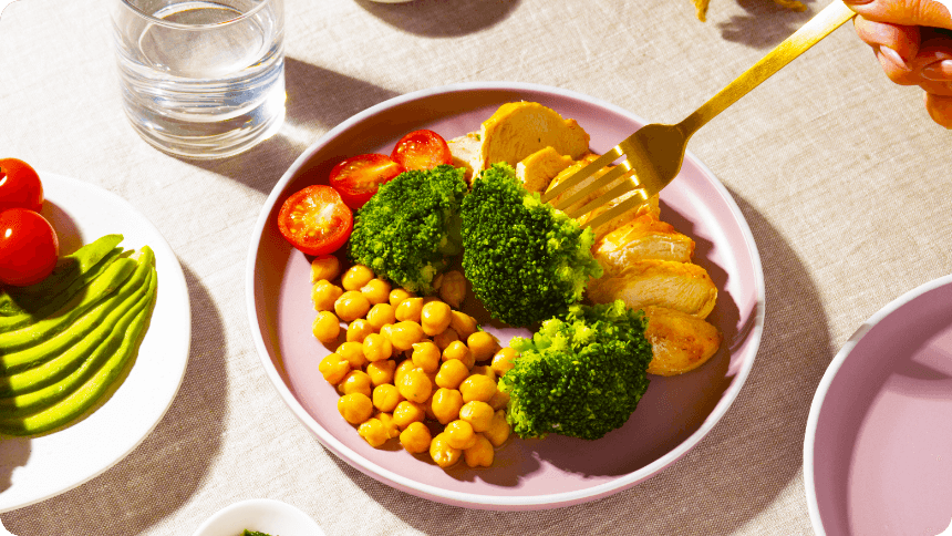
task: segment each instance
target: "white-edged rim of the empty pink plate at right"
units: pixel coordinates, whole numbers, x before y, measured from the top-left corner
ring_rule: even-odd
[[[824,372],[824,375],[820,379],[819,384],[817,385],[817,390],[814,392],[813,401],[810,402],[810,411],[807,415],[807,426],[806,432],[804,434],[803,450],[804,493],[807,499],[807,511],[810,516],[810,524],[813,525],[814,532],[816,532],[817,536],[825,536],[826,528],[824,528],[822,518],[820,517],[819,503],[817,502],[814,466],[814,445],[816,443],[817,425],[819,424],[819,415],[822,411],[822,404],[826,400],[826,395],[829,393],[829,389],[832,385],[837,373],[839,373],[844,363],[856,349],[856,347],[860,343],[860,341],[862,341],[862,339],[870,331],[876,329],[876,327],[879,326],[883,320],[886,320],[897,310],[899,310],[907,303],[915,300],[917,298],[950,285],[952,285],[952,274],[949,274],[946,276],[940,276],[935,279],[925,281],[910,290],[907,290],[897,298],[893,298],[887,305],[882,306],[882,308],[880,308],[878,311],[872,313],[872,316],[867,318],[862,323],[860,323],[859,328],[857,328],[857,330],[849,337],[849,339],[847,339],[847,341],[836,353],[836,355],[834,355],[834,359],[830,361],[830,364],[827,365],[827,370]]]

